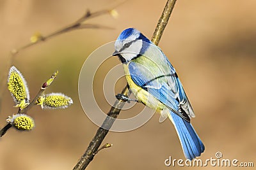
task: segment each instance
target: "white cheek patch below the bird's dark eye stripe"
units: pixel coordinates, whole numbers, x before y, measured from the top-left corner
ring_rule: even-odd
[[[130,61],[132,60],[134,57],[136,57],[138,54],[140,54],[140,50],[142,48],[142,40],[138,40],[138,41],[134,41],[129,48],[126,48],[123,52],[122,52],[122,56]]]

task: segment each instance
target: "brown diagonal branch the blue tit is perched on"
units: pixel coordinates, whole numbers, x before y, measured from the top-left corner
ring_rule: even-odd
[[[152,42],[158,45],[161,36],[163,34],[164,28],[168,22],[168,19],[170,18],[170,15],[172,13],[174,4],[176,0],[168,0],[166,3],[166,6],[164,8],[164,11],[159,18],[159,22],[156,26],[155,32],[153,37],[152,37]],[[125,88],[122,90],[122,94],[125,96],[129,95],[129,86],[126,85]],[[97,153],[97,150],[99,146],[101,145],[103,139],[105,136],[108,134],[108,130],[110,129],[113,123],[115,122],[115,118],[118,116],[120,113],[120,109],[117,108],[122,108],[124,106],[124,101],[122,100],[116,100],[115,104],[111,107],[108,116],[102,126],[98,129],[96,132],[95,136],[93,137],[92,141],[90,142],[88,148],[86,151],[83,153],[82,157],[79,159],[77,162],[76,166],[74,167],[74,170],[83,170],[85,169],[88,164],[93,160],[93,157],[95,156],[95,153]],[[111,117],[111,118],[110,118]]]

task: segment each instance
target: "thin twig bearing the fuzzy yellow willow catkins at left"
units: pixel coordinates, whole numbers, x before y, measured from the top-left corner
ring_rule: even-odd
[[[26,108],[24,108],[23,110],[20,110],[17,114],[23,113],[26,114],[27,111],[32,107],[36,105],[36,101],[39,99],[40,96],[42,96],[42,94],[44,93],[45,89],[51,85],[52,81],[54,81],[54,79],[56,78],[58,74],[58,71],[56,71],[54,74],[52,74],[51,78],[49,78],[47,81],[45,81],[45,83],[43,83],[41,89],[39,90],[39,92],[36,94],[36,97],[31,101],[31,103],[28,104],[28,106],[26,106]],[[6,124],[3,129],[0,130],[0,137],[2,137],[7,131],[8,129],[10,129],[12,127],[12,125],[10,123]]]

